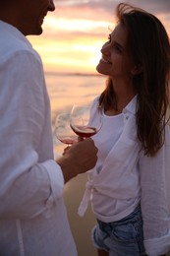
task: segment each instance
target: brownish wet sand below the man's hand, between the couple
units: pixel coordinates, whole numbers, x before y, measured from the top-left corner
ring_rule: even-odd
[[[81,174],[66,184],[64,199],[68,211],[71,229],[77,244],[79,256],[96,256],[90,233],[95,220],[90,211],[90,205],[83,218],[78,215],[78,208],[85,191],[86,174]]]

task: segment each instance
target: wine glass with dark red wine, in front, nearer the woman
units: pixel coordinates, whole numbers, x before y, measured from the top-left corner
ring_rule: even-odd
[[[71,111],[70,125],[73,131],[84,139],[96,134],[102,125],[100,107],[93,117],[90,115],[90,109],[90,104],[74,104]]]

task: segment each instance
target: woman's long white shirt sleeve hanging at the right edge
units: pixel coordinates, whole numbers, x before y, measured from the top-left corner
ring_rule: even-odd
[[[153,158],[140,160],[144,246],[149,256],[170,250],[170,130]]]

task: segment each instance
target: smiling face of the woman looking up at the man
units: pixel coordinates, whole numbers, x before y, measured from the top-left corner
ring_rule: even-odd
[[[127,48],[127,31],[119,24],[109,34],[108,41],[101,48],[102,58],[96,70],[114,80],[126,80],[132,77],[134,63]]]

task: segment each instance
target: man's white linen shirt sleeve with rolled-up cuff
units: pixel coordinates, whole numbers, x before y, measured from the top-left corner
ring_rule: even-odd
[[[0,63],[0,218],[49,215],[63,196],[53,160],[41,61],[19,51]]]

